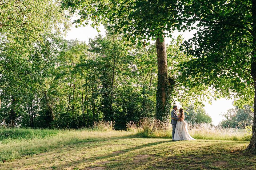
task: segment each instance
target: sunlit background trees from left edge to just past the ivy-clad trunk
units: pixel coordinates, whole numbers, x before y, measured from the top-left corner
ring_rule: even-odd
[[[1,2],[0,118],[11,126],[77,128],[115,120],[124,128],[140,117],[166,120],[170,105],[200,104],[207,91],[203,84],[184,86],[191,77],[181,76],[180,64],[192,56],[179,49],[180,36],[169,45],[158,41],[168,61],[162,67],[157,44],[135,46],[109,26],[89,44],[63,40],[72,14],[60,1]],[[157,93],[159,69],[168,96]]]

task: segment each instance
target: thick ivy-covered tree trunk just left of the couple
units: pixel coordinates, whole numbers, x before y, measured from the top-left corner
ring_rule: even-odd
[[[170,114],[170,83],[164,37],[162,42],[159,38],[156,40],[156,48],[158,66],[156,118],[161,121],[167,121]]]

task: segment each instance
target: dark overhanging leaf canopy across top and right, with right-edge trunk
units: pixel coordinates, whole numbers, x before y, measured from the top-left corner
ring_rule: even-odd
[[[196,29],[185,42],[186,53],[194,57],[182,65],[183,75],[194,82],[186,87],[203,84],[216,96],[234,95],[240,105],[254,103],[248,149],[256,153],[256,0],[63,0],[62,6],[80,10],[78,24],[88,19],[93,25],[110,23],[132,43],[163,39],[164,31],[169,36],[175,29]]]

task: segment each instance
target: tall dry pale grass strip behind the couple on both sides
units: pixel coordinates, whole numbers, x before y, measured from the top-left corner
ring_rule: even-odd
[[[172,137],[172,125],[169,121],[162,122],[152,118],[142,118],[135,123],[126,124],[128,131],[135,132],[139,137]],[[211,124],[188,124],[190,135],[195,139],[250,141],[251,134],[237,128],[223,128]]]

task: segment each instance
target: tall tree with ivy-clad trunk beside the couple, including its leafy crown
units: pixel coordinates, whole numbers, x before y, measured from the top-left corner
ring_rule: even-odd
[[[71,1],[63,0],[62,7],[71,10],[71,13],[78,11],[79,18],[74,21],[77,26],[86,25],[91,20],[92,26],[100,23],[106,24],[107,28],[113,29],[115,33],[123,33],[127,39],[127,44],[137,43],[139,46],[148,44],[147,40],[156,40],[158,84],[156,92],[156,117],[159,120],[168,120],[171,105],[181,101],[186,105],[187,97],[192,97],[197,102],[202,101],[202,95],[211,96],[204,93],[207,87],[204,84],[189,83],[191,77],[182,77],[179,71],[180,64],[189,61],[191,56],[173,56],[167,61],[165,46],[165,34],[170,36],[176,25],[175,18],[180,14],[180,7],[183,3],[177,1],[129,1],[129,0],[109,0],[109,1]],[[178,25],[182,25],[178,23]],[[181,52],[182,53],[182,52]],[[183,53],[182,53],[183,54]],[[181,60],[180,60],[181,59]],[[177,81],[178,80],[178,81]],[[186,84],[184,88],[183,84]],[[189,86],[188,86],[189,85]],[[177,90],[178,89],[178,90]],[[177,100],[173,100],[177,93],[189,92],[189,95],[180,95]]]

